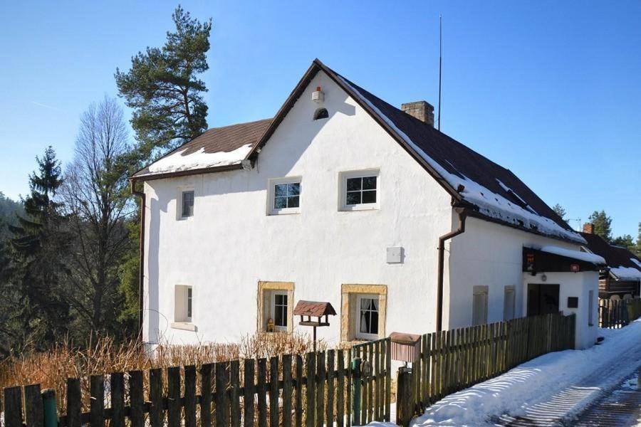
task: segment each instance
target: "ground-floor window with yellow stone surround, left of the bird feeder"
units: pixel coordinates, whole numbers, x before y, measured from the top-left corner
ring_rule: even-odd
[[[259,331],[293,331],[293,290],[291,282],[259,282],[256,316]]]

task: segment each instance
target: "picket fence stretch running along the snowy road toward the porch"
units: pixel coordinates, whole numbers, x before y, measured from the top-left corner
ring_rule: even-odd
[[[420,357],[405,381],[407,396],[398,392],[397,414],[420,413],[448,394],[541,354],[573,349],[574,339],[575,315],[561,313],[424,334]]]

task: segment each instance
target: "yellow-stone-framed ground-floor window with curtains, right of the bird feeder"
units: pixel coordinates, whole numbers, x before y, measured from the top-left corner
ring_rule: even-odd
[[[340,339],[385,337],[387,286],[342,285]]]

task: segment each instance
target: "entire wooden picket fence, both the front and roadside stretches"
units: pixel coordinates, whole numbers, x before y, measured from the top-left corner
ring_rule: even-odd
[[[404,381],[408,386],[397,391],[397,413],[411,416],[517,364],[573,348],[574,325],[574,315],[556,314],[424,334],[419,359]],[[385,338],[345,350],[90,376],[88,396],[80,380],[71,378],[66,391],[57,391],[66,393],[66,413],[59,419],[55,392],[11,387],[2,399],[4,427],[343,427],[395,421],[391,346]]]

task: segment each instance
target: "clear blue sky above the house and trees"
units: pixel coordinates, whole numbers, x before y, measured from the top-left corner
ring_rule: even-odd
[[[160,46],[177,3],[14,1],[0,30],[0,191],[28,191],[51,144],[73,157],[80,114],[116,67]],[[585,221],[641,221],[640,1],[184,1],[212,17],[209,126],[271,117],[311,60],[394,105],[436,104],[442,130]],[[127,115],[129,112],[127,111]],[[570,221],[576,226],[576,221]]]

